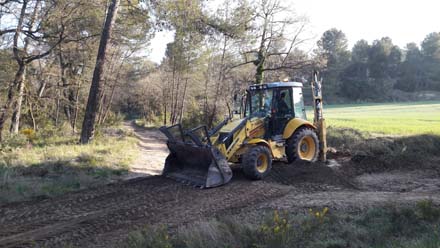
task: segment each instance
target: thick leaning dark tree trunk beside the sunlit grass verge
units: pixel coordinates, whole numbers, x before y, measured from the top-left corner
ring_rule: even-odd
[[[96,58],[95,70],[93,72],[92,85],[90,86],[89,98],[81,130],[81,144],[87,144],[93,139],[96,128],[96,117],[100,109],[100,98],[102,95],[102,79],[104,76],[104,65],[107,53],[107,44],[110,40],[113,25],[118,12],[120,0],[112,0],[108,7],[107,17],[102,30],[99,42],[98,55]]]

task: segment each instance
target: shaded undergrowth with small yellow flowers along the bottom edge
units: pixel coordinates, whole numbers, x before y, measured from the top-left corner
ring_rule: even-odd
[[[439,208],[431,201],[413,207],[385,206],[361,213],[327,208],[308,213],[274,211],[259,223],[234,217],[179,228],[147,227],[130,233],[121,247],[395,247],[438,248]]]

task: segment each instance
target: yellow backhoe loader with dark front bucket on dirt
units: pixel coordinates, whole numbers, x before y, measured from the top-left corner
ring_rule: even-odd
[[[232,178],[231,163],[241,163],[253,180],[270,173],[272,161],[325,161],[326,128],[318,73],[311,82],[314,121],[307,121],[298,82],[251,85],[240,118],[227,118],[208,130],[183,131],[180,124],[161,127],[170,154],[163,175],[201,188],[216,187]]]

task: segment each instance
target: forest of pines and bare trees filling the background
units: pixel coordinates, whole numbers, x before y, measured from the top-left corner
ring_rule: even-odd
[[[0,2],[0,130],[81,129],[108,1]],[[343,30],[303,50],[309,21],[280,1],[113,1],[94,123],[121,116],[155,124],[213,126],[252,83],[307,82],[321,71],[328,103],[414,100],[440,91],[440,33],[406,47],[390,37],[350,48]],[[215,5],[213,7],[213,5]],[[155,33],[174,32],[160,64],[147,59]],[[420,45],[419,45],[420,44]]]

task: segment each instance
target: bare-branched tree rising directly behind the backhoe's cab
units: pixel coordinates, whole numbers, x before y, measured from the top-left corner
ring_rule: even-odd
[[[235,65],[254,64],[256,84],[264,83],[266,72],[293,71],[311,63],[287,59],[305,41],[302,35],[307,24],[304,17],[292,13],[279,0],[257,1],[249,30],[254,35],[241,44],[244,62]]]

